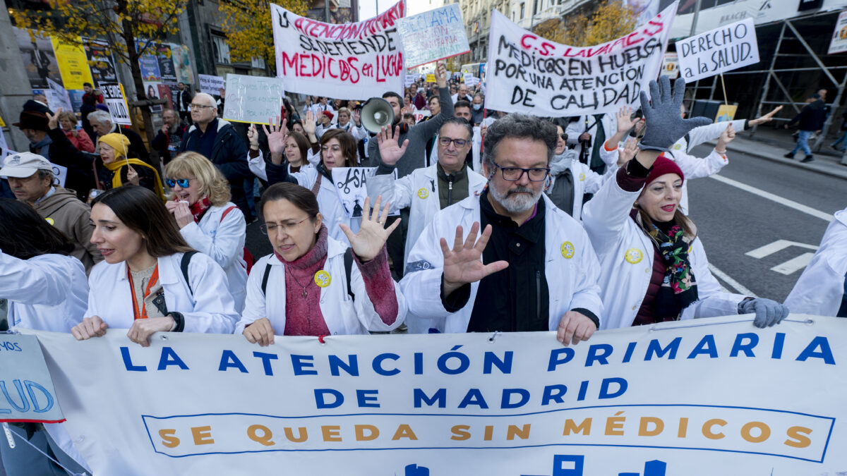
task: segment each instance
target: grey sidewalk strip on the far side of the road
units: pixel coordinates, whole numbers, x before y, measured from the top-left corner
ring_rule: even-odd
[[[805,157],[803,152],[797,152],[794,159],[783,156],[794,148],[794,141],[789,130],[773,130],[767,127],[759,127],[756,135],[750,137],[750,132],[739,132],[734,141],[729,142],[728,150],[744,152],[746,154],[772,160],[773,162],[786,163],[794,167],[817,172],[818,174],[830,175],[847,179],[847,165],[842,165],[841,154],[829,147],[834,139],[826,138],[821,143],[821,150],[815,152],[815,160],[810,163],[801,163]],[[715,145],[715,141],[707,142]],[[732,156],[730,156],[732,161]]]

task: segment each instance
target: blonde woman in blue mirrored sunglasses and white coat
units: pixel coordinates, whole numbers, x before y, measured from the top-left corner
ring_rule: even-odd
[[[230,202],[230,185],[219,169],[197,152],[183,152],[164,167],[170,193],[165,207],[188,246],[224,268],[235,311],[244,308],[247,263],[244,213]],[[252,259],[251,259],[252,261]]]

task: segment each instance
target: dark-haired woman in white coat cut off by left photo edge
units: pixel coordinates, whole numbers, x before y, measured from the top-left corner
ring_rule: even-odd
[[[0,199],[0,296],[8,300],[8,327],[69,332],[86,312],[86,268],[70,256],[74,244],[24,202]],[[5,330],[5,329],[0,329]],[[9,431],[28,440],[65,467],[81,473],[83,461],[61,423],[10,423]],[[47,434],[49,432],[49,435]],[[22,441],[10,448],[3,438],[0,460],[9,476],[64,474]]]

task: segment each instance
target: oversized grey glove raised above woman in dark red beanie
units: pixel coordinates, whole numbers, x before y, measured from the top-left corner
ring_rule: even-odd
[[[646,130],[639,142],[642,150],[669,151],[676,141],[688,134],[689,130],[701,125],[711,124],[708,118],[683,119],[680,110],[685,95],[685,80],[679,78],[671,94],[671,80],[667,76],[659,78],[659,83],[650,80],[650,100],[647,93],[641,91],[641,110],[644,111]]]

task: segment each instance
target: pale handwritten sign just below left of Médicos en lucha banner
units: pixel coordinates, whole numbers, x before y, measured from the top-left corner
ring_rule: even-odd
[[[270,125],[280,115],[285,88],[279,78],[226,75],[224,119]]]

